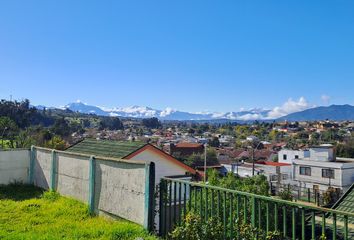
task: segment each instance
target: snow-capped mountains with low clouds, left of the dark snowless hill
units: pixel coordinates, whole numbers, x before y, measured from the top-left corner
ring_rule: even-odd
[[[122,108],[105,108],[85,104],[77,101],[70,103],[62,107],[64,109],[70,109],[71,111],[97,114],[102,116],[119,116],[119,117],[133,117],[133,118],[151,118],[157,117],[161,120],[214,120],[214,119],[230,119],[230,120],[256,120],[266,119],[270,110],[264,109],[251,109],[241,112],[200,112],[190,113],[178,111],[172,108],[166,108],[165,110],[157,110],[150,107],[132,106]]]

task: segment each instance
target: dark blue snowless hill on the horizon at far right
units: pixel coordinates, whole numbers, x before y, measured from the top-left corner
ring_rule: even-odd
[[[301,112],[289,114],[278,118],[283,121],[316,121],[316,120],[354,120],[354,106],[351,105],[331,105],[328,107],[315,107]]]

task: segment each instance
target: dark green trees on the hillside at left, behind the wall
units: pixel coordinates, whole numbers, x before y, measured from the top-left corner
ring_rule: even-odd
[[[73,119],[80,118],[80,121]],[[74,113],[68,109],[39,110],[23,101],[0,100],[0,148],[23,148],[39,145],[65,149],[74,132],[84,133],[91,121],[98,119],[100,130],[123,129],[118,117],[98,117]]]

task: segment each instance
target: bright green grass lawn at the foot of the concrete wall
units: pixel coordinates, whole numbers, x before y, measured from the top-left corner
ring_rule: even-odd
[[[92,217],[87,205],[26,185],[0,186],[0,239],[156,239],[125,220]]]

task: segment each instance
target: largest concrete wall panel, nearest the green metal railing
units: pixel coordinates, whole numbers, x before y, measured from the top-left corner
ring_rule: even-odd
[[[95,208],[144,224],[145,175],[144,165],[96,160]]]

